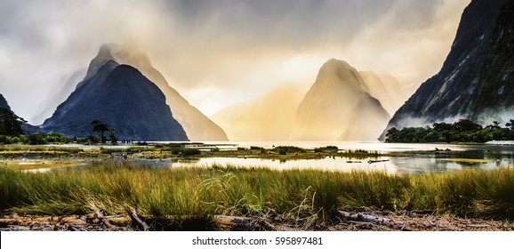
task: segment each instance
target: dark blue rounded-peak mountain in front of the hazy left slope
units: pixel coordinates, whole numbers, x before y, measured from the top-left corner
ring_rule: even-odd
[[[165,94],[137,68],[108,60],[91,69],[41,125],[45,132],[85,137],[92,131],[92,120],[100,120],[116,129],[119,140],[188,140]]]

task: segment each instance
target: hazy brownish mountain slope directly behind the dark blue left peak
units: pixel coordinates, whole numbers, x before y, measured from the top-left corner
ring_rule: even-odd
[[[170,106],[173,117],[179,121],[190,141],[228,141],[227,135],[218,124],[214,124],[197,108],[191,106],[179,92],[173,89],[165,77],[150,63],[149,57],[137,49],[120,44],[104,44],[92,60],[85,78],[92,77],[108,60],[137,68],[151,82],[157,84],[165,94],[166,104]]]

